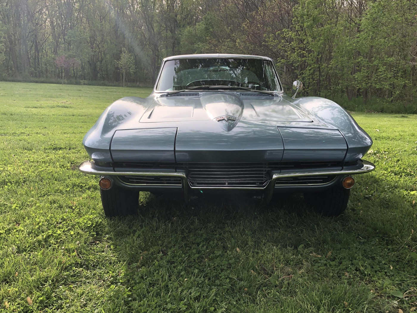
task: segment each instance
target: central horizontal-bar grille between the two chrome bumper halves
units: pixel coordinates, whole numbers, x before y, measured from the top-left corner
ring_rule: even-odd
[[[267,163],[199,163],[186,168],[191,187],[263,188],[270,180]]]

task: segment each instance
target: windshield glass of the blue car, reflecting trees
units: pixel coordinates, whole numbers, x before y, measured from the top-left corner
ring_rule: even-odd
[[[239,58],[166,61],[156,91],[175,91],[203,85],[279,91],[278,79],[271,61]]]

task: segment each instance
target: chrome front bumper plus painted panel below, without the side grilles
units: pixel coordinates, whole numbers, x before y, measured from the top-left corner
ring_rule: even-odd
[[[278,169],[271,170],[269,172],[270,180],[269,182],[262,187],[228,187],[228,186],[199,186],[193,187],[189,184],[187,179],[187,172],[182,169],[167,169],[167,170],[153,170],[153,169],[138,169],[137,171],[120,171],[117,172],[113,167],[101,167],[96,165],[94,162],[85,161],[80,164],[78,167],[80,172],[85,174],[93,174],[99,176],[114,177],[113,182],[118,184],[123,188],[137,189],[141,191],[182,191],[188,199],[188,196],[192,192],[198,192],[202,189],[212,189],[212,190],[221,190],[227,189],[227,191],[233,190],[246,190],[246,191],[261,191],[265,194],[265,198],[268,199],[272,197],[272,194],[275,191],[305,191],[313,189],[326,189],[331,187],[334,184],[337,184],[345,176],[362,174],[367,172],[372,172],[375,169],[375,165],[371,162],[360,160],[357,164],[354,165],[345,165],[345,166],[335,166],[335,167],[326,167],[326,168],[309,168],[309,169]],[[308,177],[317,177],[323,175],[334,176],[329,182],[323,184],[291,184],[286,182],[282,184],[283,179],[291,178],[308,178]],[[167,179],[181,179],[181,184],[176,186],[155,186],[152,184],[142,184],[142,185],[132,185],[126,184],[118,177],[166,177]],[[226,190],[225,190],[226,191]]]

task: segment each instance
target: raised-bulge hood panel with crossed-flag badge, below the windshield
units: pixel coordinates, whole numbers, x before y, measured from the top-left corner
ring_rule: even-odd
[[[280,96],[256,92],[208,91],[161,96],[148,107],[141,123],[217,120],[225,131],[240,121],[311,123],[313,120]]]

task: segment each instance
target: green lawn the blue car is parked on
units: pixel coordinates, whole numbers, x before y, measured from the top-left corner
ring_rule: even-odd
[[[112,101],[150,91],[0,82],[0,312],[416,310],[417,116],[353,114],[377,170],[342,217],[298,194],[265,208],[143,193],[139,216],[108,220],[81,141]]]

